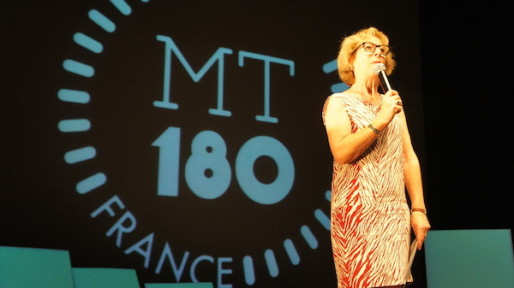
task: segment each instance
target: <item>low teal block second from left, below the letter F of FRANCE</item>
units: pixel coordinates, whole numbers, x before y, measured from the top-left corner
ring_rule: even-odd
[[[72,268],[75,288],[140,288],[136,271],[122,268]]]

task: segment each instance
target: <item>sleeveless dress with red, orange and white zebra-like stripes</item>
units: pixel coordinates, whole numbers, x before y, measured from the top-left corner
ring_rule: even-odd
[[[344,106],[352,133],[368,126],[379,108],[358,95],[335,93],[325,101],[323,123],[328,101]],[[334,161],[331,241],[338,288],[412,282],[407,267],[411,228],[403,172],[397,116],[360,158],[350,164]]]

